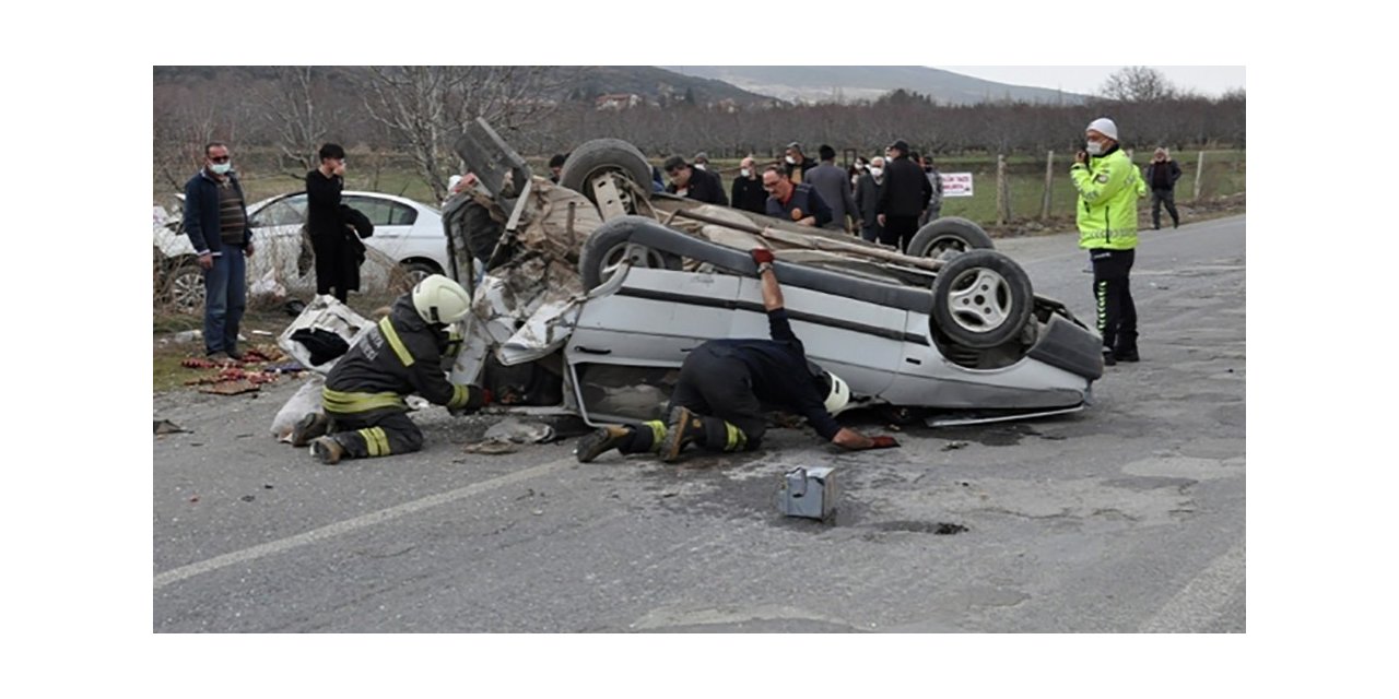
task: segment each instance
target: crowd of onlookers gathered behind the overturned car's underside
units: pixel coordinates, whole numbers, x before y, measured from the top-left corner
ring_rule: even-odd
[[[548,162],[555,183],[567,159],[567,154],[554,155]],[[705,152],[688,161],[672,155],[660,169],[652,168],[652,186],[708,204],[845,231],[900,250],[943,208],[943,180],[932,157],[919,155],[902,140],[890,144],[884,155],[860,155],[844,168],[835,164],[835,148],[821,145],[811,159],[793,141],[782,161],[760,162],[748,155],[730,176],[725,187],[723,173],[711,166]]]

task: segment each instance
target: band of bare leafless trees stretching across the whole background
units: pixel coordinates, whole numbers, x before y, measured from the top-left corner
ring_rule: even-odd
[[[800,141],[838,151],[881,152],[902,138],[921,152],[1072,152],[1084,126],[1109,116],[1133,148],[1244,148],[1242,91],[1206,98],[1175,89],[1150,69],[1126,69],[1087,103],[983,102],[944,105],[936,95],[894,91],[876,101],[736,109],[679,99],[665,108],[597,109],[567,99],[569,74],[537,66],[403,66],[347,71],[276,67],[214,71],[154,85],[155,176],[179,186],[201,162],[201,147],[271,148],[290,176],[315,166],[322,143],[406,154],[441,199],[459,172],[452,144],[483,116],[516,151],[547,157],[590,138],[620,137],[648,157],[781,155]]]

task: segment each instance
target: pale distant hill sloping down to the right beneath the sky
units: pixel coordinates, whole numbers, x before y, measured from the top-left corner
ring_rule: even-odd
[[[722,80],[785,101],[876,99],[898,88],[932,95],[939,103],[993,101],[1083,103],[1087,98],[1058,89],[1007,85],[922,66],[662,66],[697,78]]]

